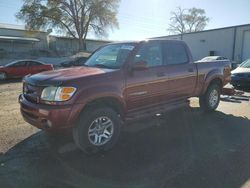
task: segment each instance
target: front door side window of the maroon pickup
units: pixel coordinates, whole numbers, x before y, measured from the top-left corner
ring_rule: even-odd
[[[163,61],[161,44],[154,42],[146,43],[141,46],[134,59],[134,62],[138,61],[146,61],[148,63],[148,67],[162,65]]]

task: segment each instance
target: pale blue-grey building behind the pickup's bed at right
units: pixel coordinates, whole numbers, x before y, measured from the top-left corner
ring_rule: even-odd
[[[235,62],[250,58],[250,24],[156,38],[184,40],[194,60],[209,55],[224,56]]]

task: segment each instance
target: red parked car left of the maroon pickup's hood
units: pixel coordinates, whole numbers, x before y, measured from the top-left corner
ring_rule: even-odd
[[[36,74],[48,70],[53,70],[53,65],[29,59],[17,60],[5,66],[0,66],[0,80],[21,78],[28,74]]]

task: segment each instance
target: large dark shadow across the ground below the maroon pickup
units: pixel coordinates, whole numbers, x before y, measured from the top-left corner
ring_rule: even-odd
[[[34,134],[0,156],[0,187],[241,187],[249,159],[249,119],[182,108],[129,124],[100,155]]]

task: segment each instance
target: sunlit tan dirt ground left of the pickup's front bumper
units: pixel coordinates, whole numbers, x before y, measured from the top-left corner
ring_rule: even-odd
[[[17,100],[21,92],[21,81],[0,83],[0,152],[2,153],[38,131],[21,117]]]

